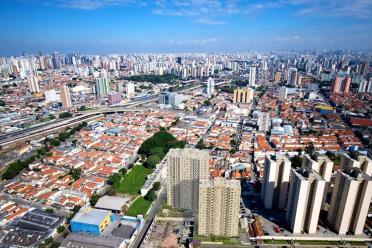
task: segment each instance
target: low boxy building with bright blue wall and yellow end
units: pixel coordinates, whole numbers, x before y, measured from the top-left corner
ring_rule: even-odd
[[[84,206],[71,220],[71,231],[99,235],[110,223],[110,214],[107,210]]]

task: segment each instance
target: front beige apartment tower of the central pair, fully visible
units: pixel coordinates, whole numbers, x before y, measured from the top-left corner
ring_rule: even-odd
[[[198,210],[199,235],[238,236],[240,181],[201,179]]]

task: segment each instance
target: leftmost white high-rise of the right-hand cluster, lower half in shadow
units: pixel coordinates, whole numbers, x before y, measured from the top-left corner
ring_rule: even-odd
[[[261,190],[265,208],[286,207],[290,171],[291,161],[287,157],[266,155]]]

